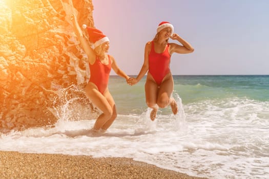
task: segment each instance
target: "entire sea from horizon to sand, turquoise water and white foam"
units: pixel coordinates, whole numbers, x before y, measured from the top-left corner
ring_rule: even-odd
[[[95,120],[72,105],[77,98],[68,99],[55,127],[3,134],[0,150],[127,157],[208,178],[269,178],[269,76],[173,78],[177,115],[159,109],[152,122],[146,78],[129,86],[111,76],[118,117],[107,132],[89,133]]]

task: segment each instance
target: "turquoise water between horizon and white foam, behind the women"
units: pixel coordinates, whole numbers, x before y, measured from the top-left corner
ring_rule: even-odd
[[[269,76],[173,76],[174,91],[183,104],[202,101],[221,101],[229,99],[269,101]],[[110,91],[117,100],[118,110],[129,113],[132,110],[144,109],[144,77],[134,86],[127,86],[118,77],[110,78]],[[131,105],[130,105],[131,104]]]

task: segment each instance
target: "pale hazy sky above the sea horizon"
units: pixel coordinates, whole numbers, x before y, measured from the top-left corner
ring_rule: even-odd
[[[170,21],[195,49],[191,54],[172,55],[173,75],[269,74],[267,0],[92,2],[95,27],[110,38],[109,54],[128,75],[139,73],[144,46],[161,21]]]

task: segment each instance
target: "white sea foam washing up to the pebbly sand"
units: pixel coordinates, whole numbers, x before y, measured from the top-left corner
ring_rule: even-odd
[[[2,134],[0,150],[128,157],[209,178],[269,177],[268,102],[204,100],[183,110],[174,95],[179,114],[158,111],[154,122],[150,109],[140,115],[119,114],[100,134],[90,130],[95,120],[70,119],[68,100],[58,108],[55,127]]]

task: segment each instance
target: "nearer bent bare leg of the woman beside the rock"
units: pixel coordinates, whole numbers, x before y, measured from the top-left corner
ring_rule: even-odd
[[[107,98],[102,95],[95,84],[89,82],[86,86],[86,95],[91,102],[102,111],[102,114],[96,119],[93,130],[98,131],[113,115],[113,109]]]

